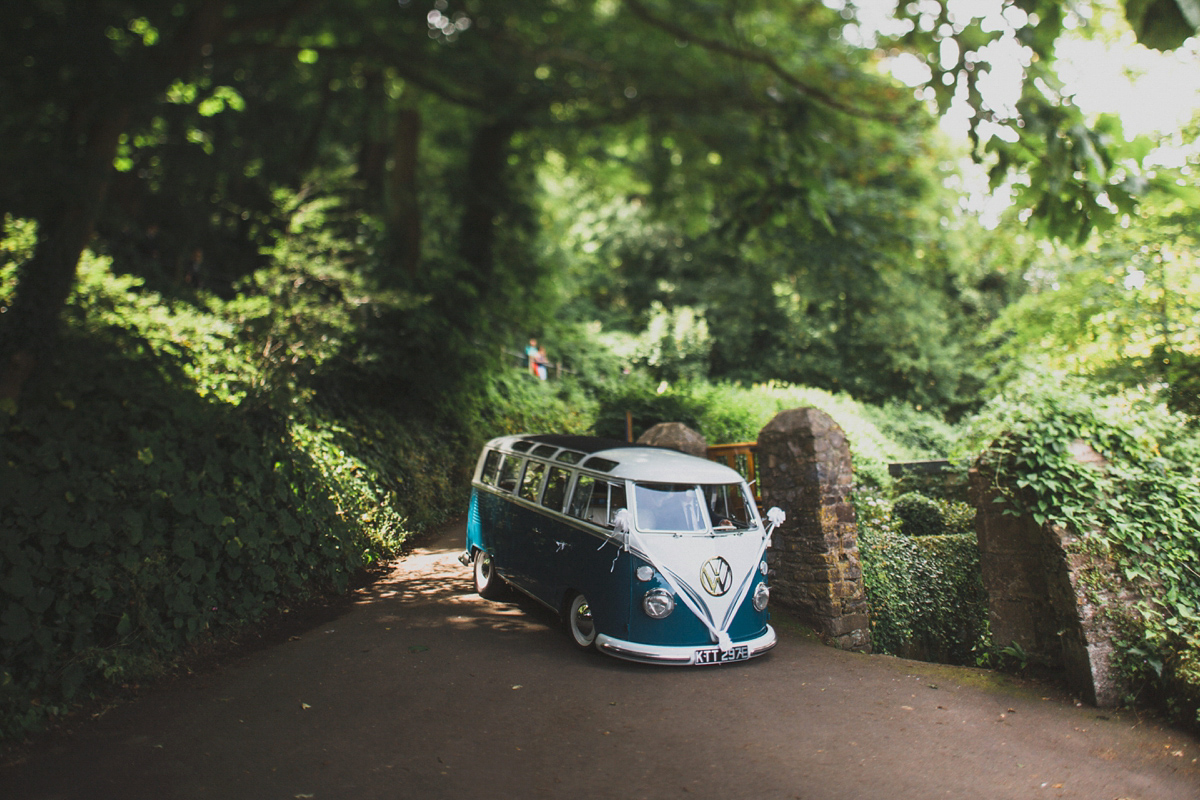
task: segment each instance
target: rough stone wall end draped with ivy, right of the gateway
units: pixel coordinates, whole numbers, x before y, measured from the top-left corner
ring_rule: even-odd
[[[1103,461],[1084,443],[1072,449],[1094,469]],[[1117,705],[1124,687],[1112,666],[1112,637],[1135,599],[1102,547],[1028,515],[1004,513],[991,470],[970,473],[971,504],[992,640],[1018,644],[1032,663],[1062,669],[1070,688],[1102,708]],[[1098,541],[1098,540],[1097,540]]]

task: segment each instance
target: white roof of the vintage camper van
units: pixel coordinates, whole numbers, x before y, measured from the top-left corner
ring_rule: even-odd
[[[634,445],[619,439],[560,434],[499,437],[488,447],[534,455],[613,477],[654,483],[740,483],[737,470],[707,458],[670,450]]]

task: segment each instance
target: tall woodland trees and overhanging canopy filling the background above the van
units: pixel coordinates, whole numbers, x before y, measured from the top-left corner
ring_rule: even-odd
[[[1112,22],[1019,5],[876,25],[782,0],[17,0],[0,212],[54,235],[0,325],[0,377],[53,349],[92,228],[152,289],[228,296],[292,223],[286,191],[336,194],[355,269],[424,297],[448,339],[546,333],[582,368],[599,330],[659,379],[961,415],[1022,276],[964,212],[937,114],[970,106],[973,155],[1061,237],[1178,190],[1055,91],[1055,43]],[[1188,30],[1127,16],[1159,46]],[[980,91],[994,43],[1024,61],[1015,108]],[[930,71],[916,94],[901,53]]]

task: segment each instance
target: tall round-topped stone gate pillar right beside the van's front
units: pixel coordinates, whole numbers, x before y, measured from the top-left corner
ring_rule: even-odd
[[[824,411],[798,408],[767,423],[757,451],[763,506],[787,512],[768,554],[775,570],[772,600],[794,610],[826,642],[870,652],[846,434]]]

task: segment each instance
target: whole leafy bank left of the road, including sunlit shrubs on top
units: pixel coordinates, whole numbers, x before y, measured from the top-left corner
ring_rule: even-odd
[[[0,305],[32,236],[10,230]],[[269,303],[248,288],[185,302],[109,266],[83,264],[55,363],[66,383],[35,380],[0,414],[4,735],[343,591],[461,512],[487,435],[586,425],[560,387],[523,375],[464,390],[457,417],[325,389],[334,367],[382,380],[370,359],[348,362],[366,289],[350,273],[310,261],[254,276]]]

